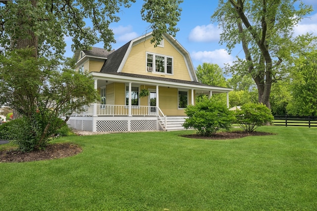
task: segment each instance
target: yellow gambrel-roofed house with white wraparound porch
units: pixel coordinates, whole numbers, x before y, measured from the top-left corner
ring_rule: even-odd
[[[198,95],[227,93],[231,88],[198,82],[188,51],[173,37],[163,35],[157,47],[152,33],[117,50],[75,52],[77,70],[87,70],[95,80],[100,102],[73,114],[70,127],[89,131],[178,130],[184,109]]]

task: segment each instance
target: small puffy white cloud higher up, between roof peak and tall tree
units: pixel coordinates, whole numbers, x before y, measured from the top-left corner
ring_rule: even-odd
[[[221,30],[212,24],[196,26],[189,34],[188,39],[193,42],[219,41]]]

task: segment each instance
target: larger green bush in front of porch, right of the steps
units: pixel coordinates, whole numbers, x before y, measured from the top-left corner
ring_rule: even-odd
[[[230,129],[235,120],[234,112],[219,101],[212,101],[207,97],[201,98],[196,105],[189,105],[185,109],[188,118],[183,127],[194,128],[197,134],[211,136],[219,129]]]

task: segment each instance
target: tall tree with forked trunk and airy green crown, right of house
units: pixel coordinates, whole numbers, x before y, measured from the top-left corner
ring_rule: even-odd
[[[211,16],[222,28],[220,43],[229,52],[242,44],[245,59],[238,58],[229,71],[251,75],[259,102],[270,107],[272,83],[287,72],[294,54],[314,48],[311,35],[294,37],[293,28],[311,6],[301,0],[219,0]]]

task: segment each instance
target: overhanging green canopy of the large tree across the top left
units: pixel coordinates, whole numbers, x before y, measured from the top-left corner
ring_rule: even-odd
[[[34,48],[34,56],[60,56],[65,37],[72,38],[72,50],[115,42],[109,24],[119,21],[122,6],[135,0],[0,0],[0,47]],[[154,31],[153,42],[167,32],[178,31],[182,0],[145,0],[142,18]],[[140,15],[141,16],[141,15]],[[91,26],[85,21],[91,21]],[[3,50],[3,49],[2,49]]]

